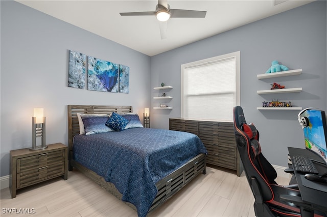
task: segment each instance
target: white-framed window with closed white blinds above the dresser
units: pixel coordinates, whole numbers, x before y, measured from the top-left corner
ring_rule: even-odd
[[[240,105],[240,51],[181,65],[181,116],[233,121]]]

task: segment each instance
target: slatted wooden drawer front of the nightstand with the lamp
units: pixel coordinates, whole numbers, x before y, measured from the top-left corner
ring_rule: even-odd
[[[17,189],[65,173],[65,151],[24,157],[17,160]]]

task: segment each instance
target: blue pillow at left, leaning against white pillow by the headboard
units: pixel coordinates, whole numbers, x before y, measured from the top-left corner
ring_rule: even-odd
[[[84,124],[85,135],[113,131],[105,125],[109,115],[81,115],[81,118]]]

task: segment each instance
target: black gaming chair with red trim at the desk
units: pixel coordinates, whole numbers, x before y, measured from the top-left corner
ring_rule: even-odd
[[[251,187],[256,216],[327,216],[304,202],[297,185],[282,186],[275,169],[261,153],[259,131],[247,124],[241,106],[233,109],[235,139]]]

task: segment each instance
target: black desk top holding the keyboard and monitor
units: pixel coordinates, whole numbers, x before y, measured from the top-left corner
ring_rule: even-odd
[[[291,157],[295,155],[302,155],[321,161],[319,156],[315,155],[307,149],[288,147],[288,151]],[[301,176],[304,176],[304,174],[294,171],[294,175],[298,183],[298,188],[300,190],[302,200],[312,204],[313,208],[316,210],[327,212],[327,193],[303,186]]]

